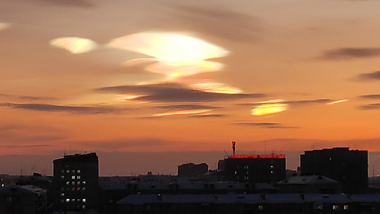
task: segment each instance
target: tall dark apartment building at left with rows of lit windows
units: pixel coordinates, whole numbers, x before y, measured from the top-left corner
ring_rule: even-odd
[[[96,153],[64,155],[53,161],[55,210],[97,208],[99,161]]]

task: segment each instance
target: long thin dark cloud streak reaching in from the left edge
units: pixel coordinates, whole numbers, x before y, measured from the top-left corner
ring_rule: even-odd
[[[40,112],[68,112],[74,114],[102,114],[116,113],[119,109],[105,106],[74,106],[74,105],[52,105],[42,103],[0,103],[0,106],[11,107],[13,109],[25,109]]]

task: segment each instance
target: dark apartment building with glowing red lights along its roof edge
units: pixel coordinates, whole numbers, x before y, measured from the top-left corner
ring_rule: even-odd
[[[267,184],[285,180],[284,154],[232,155],[223,163],[226,180]]]

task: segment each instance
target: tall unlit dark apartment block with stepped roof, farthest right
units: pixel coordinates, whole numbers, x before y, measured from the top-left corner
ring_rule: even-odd
[[[364,193],[368,187],[368,151],[348,147],[305,151],[301,174],[339,181],[345,193]]]

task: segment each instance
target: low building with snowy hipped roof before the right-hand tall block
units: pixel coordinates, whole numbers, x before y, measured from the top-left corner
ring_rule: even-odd
[[[324,176],[293,176],[277,182],[275,187],[281,193],[342,193],[342,183]]]

